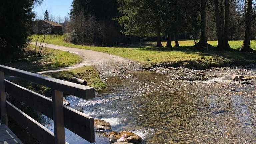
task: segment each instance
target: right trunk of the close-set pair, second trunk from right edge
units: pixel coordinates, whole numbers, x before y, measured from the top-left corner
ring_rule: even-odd
[[[230,46],[228,43],[229,35],[228,35],[228,27],[229,27],[229,7],[230,7],[230,0],[225,0],[225,23],[224,23],[224,44],[225,50],[230,50]]]

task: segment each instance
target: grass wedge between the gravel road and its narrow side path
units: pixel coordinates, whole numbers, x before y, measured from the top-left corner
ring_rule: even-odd
[[[25,58],[15,60],[7,66],[35,73],[64,68],[82,61],[76,54],[49,48],[46,48],[44,56],[34,57],[33,50],[34,45],[29,45],[25,51]]]

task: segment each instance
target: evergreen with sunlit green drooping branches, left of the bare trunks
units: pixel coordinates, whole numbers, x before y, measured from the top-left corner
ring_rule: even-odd
[[[163,0],[122,0],[119,11],[123,16],[116,20],[125,29],[126,35],[157,37],[157,47],[161,44],[161,8]]]

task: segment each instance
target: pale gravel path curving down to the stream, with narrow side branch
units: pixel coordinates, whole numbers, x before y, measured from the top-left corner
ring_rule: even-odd
[[[36,43],[31,42],[30,44],[35,45]],[[126,71],[142,70],[141,66],[135,61],[114,56],[107,53],[102,53],[102,52],[97,52],[92,50],[85,50],[85,49],[78,49],[78,48],[71,48],[71,47],[64,47],[64,46],[58,46],[53,44],[46,44],[46,47],[78,54],[79,56],[82,57],[83,61],[79,64],[76,64],[70,67],[65,67],[65,68],[56,69],[56,70],[42,71],[42,72],[38,72],[38,74],[64,71],[64,70],[75,69],[83,66],[93,66],[98,70],[100,76],[103,78],[107,76],[122,75]]]

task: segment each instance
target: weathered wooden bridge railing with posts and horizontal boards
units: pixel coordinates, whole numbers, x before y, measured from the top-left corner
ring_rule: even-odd
[[[8,73],[52,89],[52,99],[21,87],[4,79]],[[54,133],[17,107],[6,101],[6,93],[24,102],[29,107],[51,118],[54,122]],[[38,141],[43,144],[64,144],[64,127],[78,136],[94,142],[93,117],[63,105],[63,92],[83,99],[95,97],[94,88],[75,84],[51,77],[0,65],[0,108],[2,123],[8,126],[7,115],[26,128]]]

